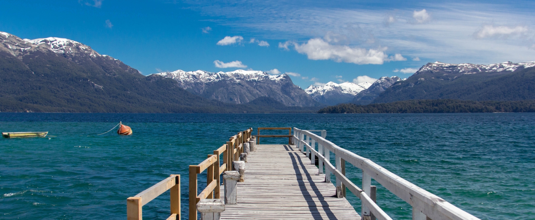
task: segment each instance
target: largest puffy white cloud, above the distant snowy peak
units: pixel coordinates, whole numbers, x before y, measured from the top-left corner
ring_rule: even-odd
[[[312,38],[303,44],[295,42],[279,43],[279,48],[288,49],[288,45],[293,45],[295,50],[301,54],[307,54],[308,59],[311,60],[331,59],[335,62],[352,62],[354,64],[383,64],[385,61],[403,58],[401,54],[388,58],[383,52],[386,48],[366,50],[347,45],[332,45],[322,38]]]

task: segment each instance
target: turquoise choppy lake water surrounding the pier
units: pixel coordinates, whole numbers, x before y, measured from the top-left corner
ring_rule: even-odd
[[[131,126],[133,135],[114,130],[96,136],[118,121]],[[0,139],[0,218],[124,219],[127,197],[181,174],[187,219],[188,166],[249,127],[325,129],[338,146],[481,219],[535,219],[533,113],[0,113],[2,132],[57,136]],[[346,175],[360,185],[360,170],[348,165]],[[199,177],[200,190],[204,179]],[[360,212],[360,201],[349,194]],[[393,219],[410,219],[408,203],[380,186],[377,200]],[[146,219],[167,216],[169,193],[143,206]]]

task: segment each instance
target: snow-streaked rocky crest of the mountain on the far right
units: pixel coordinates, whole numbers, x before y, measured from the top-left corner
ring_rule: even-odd
[[[524,69],[528,67],[534,67],[535,61],[531,62],[502,62],[501,64],[491,65],[479,65],[479,64],[445,64],[444,62],[428,63],[418,70],[414,75],[418,75],[424,72],[433,72],[441,70],[449,73],[460,73],[463,75],[476,74],[476,73],[493,73],[493,72],[513,72],[517,69]]]

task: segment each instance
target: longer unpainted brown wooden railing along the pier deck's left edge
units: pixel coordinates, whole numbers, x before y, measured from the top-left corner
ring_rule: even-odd
[[[239,160],[243,153],[243,143],[251,139],[252,128],[232,136],[226,144],[209,154],[208,158],[198,165],[189,166],[189,219],[197,219],[197,203],[201,199],[220,199],[220,177],[225,171],[233,170],[232,161]],[[219,157],[223,154],[223,164]],[[207,186],[197,195],[197,175],[207,171]]]

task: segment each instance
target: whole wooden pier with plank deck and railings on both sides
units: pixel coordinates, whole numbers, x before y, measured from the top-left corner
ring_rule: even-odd
[[[289,135],[260,135],[260,130],[288,130]],[[376,204],[372,178],[412,206],[413,220],[479,220],[373,161],[333,144],[326,139],[326,130],[258,128],[257,135],[252,132],[252,128],[239,132],[208,154],[206,160],[189,166],[190,220],[198,219],[199,212],[203,220],[392,220]],[[288,144],[261,145],[261,137],[288,138]],[[361,187],[345,176],[346,163],[362,170]],[[203,171],[207,173],[207,186],[198,193],[197,176]],[[335,177],[333,181],[331,176]],[[225,179],[225,185],[221,185],[221,179]],[[181,219],[180,175],[171,175],[129,197],[127,219],[141,220],[142,206],[167,190],[171,190],[171,215],[167,220]],[[360,199],[360,215],[346,200],[346,190]]]

